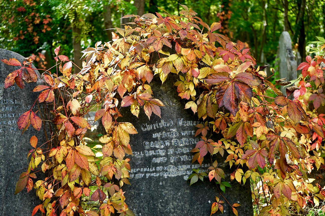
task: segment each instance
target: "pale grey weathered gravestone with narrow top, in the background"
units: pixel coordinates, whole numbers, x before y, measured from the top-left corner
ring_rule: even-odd
[[[291,38],[288,31],[283,31],[279,40],[279,49],[277,52],[279,78],[287,78],[286,81],[291,81],[297,78],[297,61],[292,52]],[[281,86],[281,91],[286,95],[287,87]]]

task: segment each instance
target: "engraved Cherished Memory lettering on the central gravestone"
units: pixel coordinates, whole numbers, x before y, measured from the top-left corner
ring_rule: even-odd
[[[147,158],[151,162],[147,167],[137,167],[131,171],[131,178],[154,178],[184,176],[187,179],[192,169],[207,171],[210,164],[192,164],[190,151],[201,138],[195,137],[195,127],[203,124],[184,118],[161,119],[160,122],[143,123],[136,128],[139,135],[145,134],[150,140],[142,142],[141,150],[132,152],[133,158]],[[194,130],[193,130],[194,129]],[[150,136],[147,136],[147,135]]]

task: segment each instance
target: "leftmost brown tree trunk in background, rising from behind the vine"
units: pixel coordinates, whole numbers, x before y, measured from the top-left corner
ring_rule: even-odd
[[[73,62],[79,68],[82,68],[80,35],[81,35],[81,29],[78,28],[75,23],[72,23]],[[74,74],[80,72],[80,69],[77,66],[74,66],[73,68]]]

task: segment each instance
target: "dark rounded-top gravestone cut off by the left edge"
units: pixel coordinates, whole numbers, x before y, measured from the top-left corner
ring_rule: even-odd
[[[17,53],[0,49],[0,59],[9,58],[16,58],[21,64],[25,60]],[[43,128],[36,131],[30,126],[23,135],[18,129],[19,116],[30,109],[38,96],[32,92],[37,83],[26,84],[26,88],[22,90],[16,84],[8,89],[4,88],[7,75],[19,68],[0,61],[0,215],[10,216],[32,215],[33,208],[41,203],[33,190],[30,193],[26,189],[17,195],[14,193],[19,175],[26,172],[28,167],[27,154],[32,149],[30,138],[35,135],[38,146],[45,142]],[[40,77],[38,71],[35,72]],[[33,111],[37,109],[35,107]]]

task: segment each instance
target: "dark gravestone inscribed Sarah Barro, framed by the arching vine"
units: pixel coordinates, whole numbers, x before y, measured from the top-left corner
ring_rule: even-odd
[[[208,216],[215,197],[219,197],[218,188],[207,177],[204,182],[198,180],[191,186],[186,181],[192,169],[208,171],[211,160],[206,157],[209,160],[204,160],[202,166],[192,164],[194,153],[190,150],[200,140],[200,136],[195,137],[198,129],[195,125],[202,123],[202,120],[190,109],[184,110],[186,101],[180,99],[173,86],[177,77],[170,74],[162,85],[159,77],[155,76],[150,83],[155,98],[165,104],[165,107],[161,107],[162,118],[152,114],[149,120],[143,109],[139,118],[129,110],[123,111],[123,119],[131,122],[138,132],[130,136],[133,150],[133,156],[128,156],[131,158],[131,186],[123,186],[126,203],[136,216]],[[224,163],[226,154],[224,158],[217,159],[218,167],[225,171],[226,179],[222,181],[232,186],[223,195],[229,203],[241,205],[237,208],[239,215],[253,215],[249,181],[244,186],[237,181],[231,182],[233,169],[229,169],[229,163]],[[224,200],[222,196],[220,199]],[[215,215],[234,214],[225,201],[224,213],[219,211]]]

